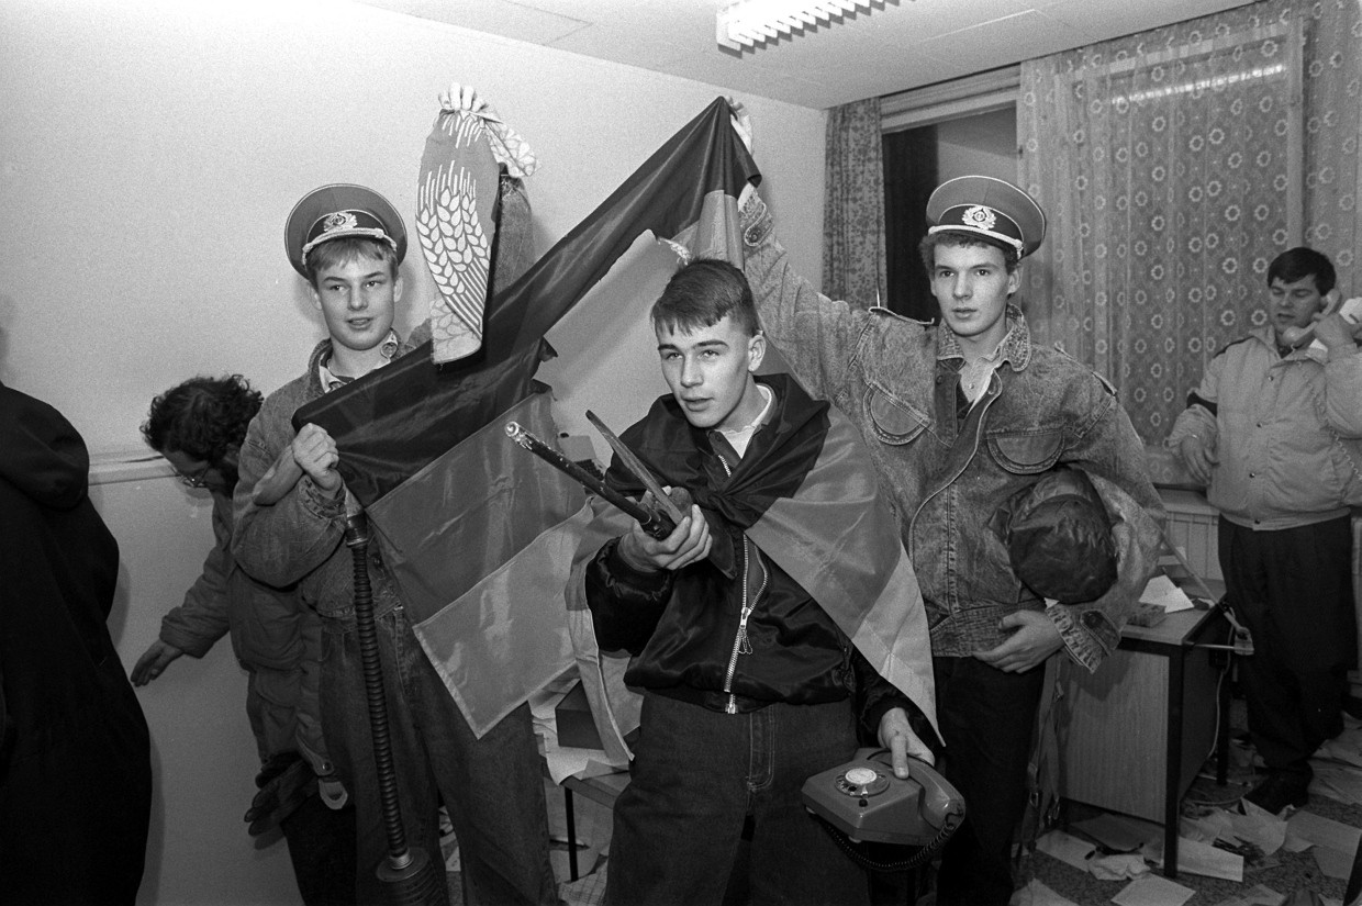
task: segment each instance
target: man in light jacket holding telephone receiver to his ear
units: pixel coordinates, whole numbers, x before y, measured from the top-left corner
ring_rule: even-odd
[[[1245,796],[1278,813],[1309,800],[1310,755],[1343,729],[1357,663],[1350,505],[1362,478],[1362,300],[1293,248],[1268,267],[1269,319],[1207,365],[1167,446],[1220,512],[1230,605],[1253,638],[1239,662],[1267,775]]]

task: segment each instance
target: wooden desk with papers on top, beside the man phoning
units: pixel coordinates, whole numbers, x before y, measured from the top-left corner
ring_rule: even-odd
[[[1196,646],[1222,644],[1229,635],[1219,608],[1170,613],[1156,627],[1128,625],[1096,674],[1073,669],[1065,685],[1060,794],[1162,823],[1167,877],[1178,871],[1182,796],[1229,726],[1218,691],[1226,653]],[[1220,770],[1223,782],[1223,755]]]

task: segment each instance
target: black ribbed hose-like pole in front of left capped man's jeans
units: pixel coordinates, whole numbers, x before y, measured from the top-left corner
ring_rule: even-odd
[[[373,621],[373,589],[369,584],[369,519],[360,510],[346,514],[345,542],[354,559],[354,620],[364,665],[364,691],[369,702],[369,730],[373,736],[373,763],[379,782],[379,804],[388,837],[388,856],[377,866],[387,899],[394,906],[447,906],[448,886],[444,862],[434,861],[419,849],[407,846],[398,798],[398,772],[392,763],[388,733],[388,703],[383,689],[383,663],[379,659],[379,634]]]

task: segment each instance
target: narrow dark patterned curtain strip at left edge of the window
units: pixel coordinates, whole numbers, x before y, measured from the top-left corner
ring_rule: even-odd
[[[865,307],[887,297],[880,98],[828,110],[823,292]]]

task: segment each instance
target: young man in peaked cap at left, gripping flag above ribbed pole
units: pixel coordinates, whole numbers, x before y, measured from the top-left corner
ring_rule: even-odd
[[[335,469],[335,440],[319,425],[294,432],[291,418],[302,403],[384,366],[424,337],[403,342],[392,330],[407,238],[402,218],[377,192],[360,185],[309,192],[289,215],[285,244],[328,337],[312,350],[302,376],[271,394],[251,422],[241,447],[232,549],[262,582],[297,583],[302,599],[323,616],[323,728],[358,809],[358,899],[380,902],[384,891],[375,869],[387,853],[387,837],[354,624],[351,554],[343,540],[347,495]],[[272,480],[290,469],[302,477],[274,499]],[[257,495],[257,484],[270,493]],[[528,707],[522,704],[475,737],[413,634],[376,548],[369,578],[409,843],[441,860],[443,797],[459,839],[466,902],[556,903]]]

